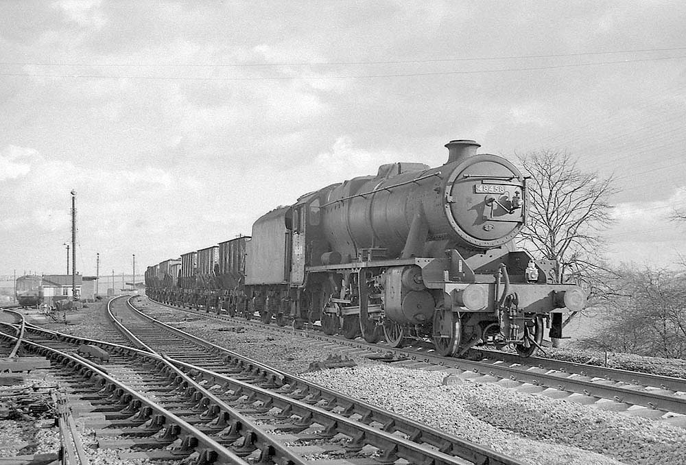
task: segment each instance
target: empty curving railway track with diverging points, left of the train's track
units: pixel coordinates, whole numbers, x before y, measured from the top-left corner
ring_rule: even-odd
[[[129,379],[128,384],[142,389],[142,394],[156,397],[185,393],[190,400],[183,403],[177,400],[173,406],[182,408],[185,405],[188,411],[182,412],[183,415],[192,417],[192,421],[185,418],[186,421],[197,422],[198,429],[208,434],[214,430],[218,435],[216,442],[237,446],[238,455],[252,454],[259,462],[279,464],[311,464],[316,463],[318,457],[352,461],[358,465],[399,461],[436,465],[521,463],[213,346],[150,318],[141,320],[121,299],[113,302],[110,313],[138,348],[60,335],[33,326],[27,327],[27,335],[34,343],[40,341],[41,345],[61,350],[67,349],[65,345],[71,350],[84,345],[106,350],[110,353],[110,361],[102,363],[102,368],[118,378],[123,376],[123,366],[127,370],[133,370],[134,366],[150,370],[150,366],[154,366],[162,381],[139,372],[141,379]],[[138,359],[144,360],[147,368],[145,363],[134,364]],[[163,363],[167,365],[160,368]],[[180,385],[171,388],[172,379]],[[118,388],[108,388],[108,392],[113,395],[108,398],[108,402],[113,402],[110,408],[120,409],[119,421],[129,421],[130,417],[121,418],[121,410],[131,415],[137,406],[131,405],[130,399]],[[165,398],[160,403],[167,405],[168,401]],[[141,415],[141,409],[137,412],[133,416]],[[183,417],[176,410],[175,413]],[[110,421],[109,431],[100,433],[116,436],[140,433],[140,425],[122,429],[113,427],[113,418],[106,420]],[[147,445],[138,439],[132,439],[132,444],[118,442],[130,446]],[[103,445],[108,444],[104,442]],[[211,458],[205,457],[206,460]]]

